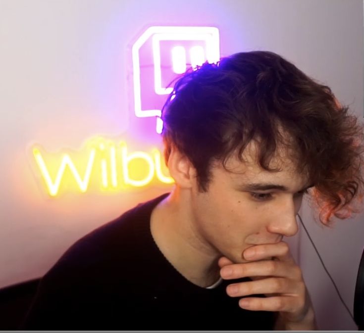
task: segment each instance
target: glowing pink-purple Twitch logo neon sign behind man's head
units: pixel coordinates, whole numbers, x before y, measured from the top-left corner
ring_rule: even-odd
[[[161,107],[173,88],[176,74],[206,61],[220,59],[219,31],[215,27],[150,27],[134,43],[134,109],[137,117],[156,117],[161,133]]]

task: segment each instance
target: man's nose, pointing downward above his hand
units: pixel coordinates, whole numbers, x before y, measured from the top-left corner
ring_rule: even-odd
[[[282,236],[294,236],[298,232],[298,224],[296,219],[296,207],[294,200],[285,200],[279,211],[272,214],[272,219],[268,225],[268,231],[273,234]]]

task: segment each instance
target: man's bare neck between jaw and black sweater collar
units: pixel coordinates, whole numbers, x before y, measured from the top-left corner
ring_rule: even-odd
[[[198,234],[190,205],[177,190],[152,212],[152,236],[166,259],[187,280],[207,287],[220,277],[219,255]]]

